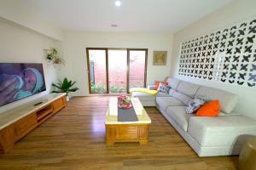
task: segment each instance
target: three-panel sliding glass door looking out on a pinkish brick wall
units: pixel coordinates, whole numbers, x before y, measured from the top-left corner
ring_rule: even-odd
[[[86,48],[90,94],[129,93],[143,88],[148,49]]]

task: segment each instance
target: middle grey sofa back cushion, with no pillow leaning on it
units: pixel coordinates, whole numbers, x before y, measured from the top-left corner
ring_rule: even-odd
[[[195,97],[195,93],[200,86],[191,82],[180,82],[177,86],[177,91],[189,96],[190,98]]]

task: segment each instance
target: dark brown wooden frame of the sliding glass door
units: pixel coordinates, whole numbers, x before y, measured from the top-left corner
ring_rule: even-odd
[[[105,56],[106,56],[106,82],[107,82],[107,92],[106,94],[109,94],[109,75],[108,75],[108,50],[126,50],[127,51],[127,73],[126,73],[126,93],[129,94],[130,89],[130,51],[145,51],[145,65],[144,65],[144,84],[143,87],[146,87],[147,83],[147,67],[148,67],[148,48],[86,48],[86,59],[87,59],[87,75],[88,75],[88,86],[89,86],[89,94],[91,93],[91,87],[90,87],[90,56],[89,51],[90,50],[104,50]]]

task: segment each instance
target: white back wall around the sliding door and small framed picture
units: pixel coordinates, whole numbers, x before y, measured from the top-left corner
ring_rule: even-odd
[[[85,48],[148,48],[147,83],[153,83],[168,76],[172,34],[67,31],[62,48],[67,61],[67,71],[61,71],[62,75],[77,81],[80,90],[74,95],[83,96],[89,94]],[[154,50],[168,51],[167,65],[153,65]]]

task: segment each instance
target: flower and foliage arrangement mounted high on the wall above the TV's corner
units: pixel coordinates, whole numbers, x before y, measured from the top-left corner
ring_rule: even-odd
[[[44,49],[46,51],[46,59],[53,65],[62,64],[65,65],[65,60],[59,56],[56,48]]]

